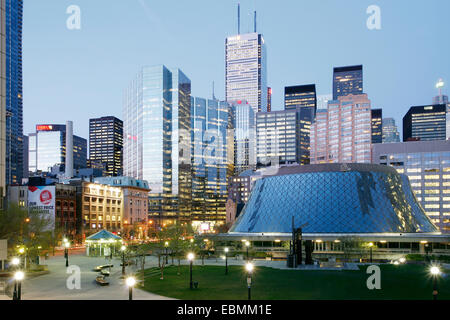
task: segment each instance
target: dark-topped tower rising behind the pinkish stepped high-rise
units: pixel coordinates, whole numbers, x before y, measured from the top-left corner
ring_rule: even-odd
[[[363,66],[334,68],[333,100],[349,94],[363,93]]]

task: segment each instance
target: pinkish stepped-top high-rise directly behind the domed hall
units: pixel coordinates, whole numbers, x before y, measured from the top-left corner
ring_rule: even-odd
[[[372,112],[367,94],[339,97],[317,110],[311,126],[311,163],[370,163]]]

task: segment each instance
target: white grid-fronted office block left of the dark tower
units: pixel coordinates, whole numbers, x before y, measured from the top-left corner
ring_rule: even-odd
[[[300,163],[300,111],[301,108],[256,114],[258,167]]]

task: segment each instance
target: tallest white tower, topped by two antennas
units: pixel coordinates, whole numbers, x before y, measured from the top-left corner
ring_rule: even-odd
[[[246,100],[253,111],[267,111],[266,45],[256,32],[225,41],[225,100]]]

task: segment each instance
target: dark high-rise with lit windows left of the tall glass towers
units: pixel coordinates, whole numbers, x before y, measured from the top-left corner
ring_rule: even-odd
[[[116,117],[89,120],[89,160],[102,163],[106,176],[122,175],[122,120]]]

